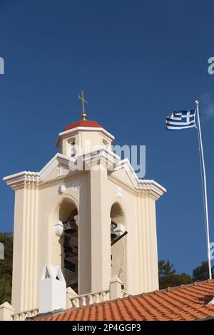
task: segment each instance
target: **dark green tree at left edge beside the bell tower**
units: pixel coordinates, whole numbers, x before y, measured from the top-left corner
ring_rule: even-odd
[[[4,244],[4,259],[0,259],[0,304],[11,304],[13,234],[0,232],[0,242]]]

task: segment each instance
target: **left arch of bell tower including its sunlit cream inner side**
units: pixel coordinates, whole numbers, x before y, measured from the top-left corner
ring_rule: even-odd
[[[78,293],[77,200],[63,194],[51,207],[46,222],[46,264],[61,267],[67,287]],[[75,278],[74,278],[75,277]]]

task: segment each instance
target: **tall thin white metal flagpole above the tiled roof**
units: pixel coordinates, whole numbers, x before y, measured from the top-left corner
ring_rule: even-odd
[[[211,257],[210,257],[210,232],[209,232],[209,216],[208,216],[208,193],[207,193],[207,180],[206,180],[206,172],[205,172],[205,162],[203,155],[203,143],[201,136],[201,128],[200,128],[200,115],[199,115],[199,102],[195,101],[196,104],[196,113],[198,117],[198,135],[199,135],[199,145],[200,145],[200,157],[202,160],[202,168],[203,168],[203,192],[204,192],[204,202],[205,202],[205,225],[206,225],[206,234],[207,234],[207,248],[208,248],[208,267],[209,267],[209,277],[212,279],[212,269],[211,269]]]

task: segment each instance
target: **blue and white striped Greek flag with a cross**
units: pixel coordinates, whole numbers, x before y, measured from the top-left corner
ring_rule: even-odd
[[[195,110],[179,110],[167,116],[166,129],[181,130],[187,128],[197,128],[195,125]]]

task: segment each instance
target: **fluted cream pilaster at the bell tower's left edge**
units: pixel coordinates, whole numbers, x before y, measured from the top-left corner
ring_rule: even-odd
[[[38,192],[38,183],[28,181],[18,186],[15,194],[11,304],[16,312],[38,305]]]

